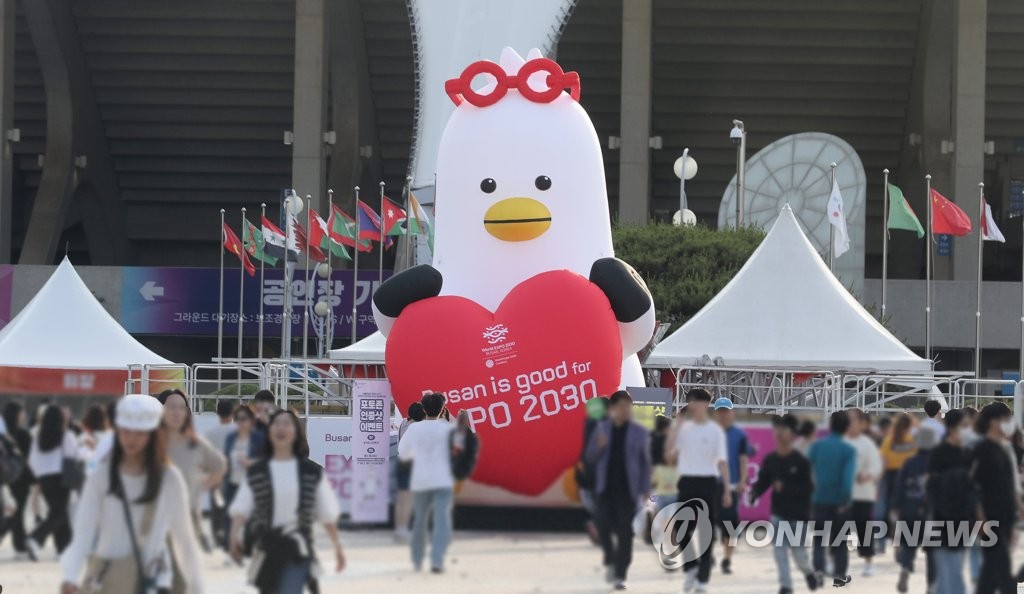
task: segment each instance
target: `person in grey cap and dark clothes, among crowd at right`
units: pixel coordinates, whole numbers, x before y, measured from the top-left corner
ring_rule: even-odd
[[[939,436],[928,425],[923,425],[914,435],[916,452],[908,458],[902,468],[893,478],[892,496],[888,508],[905,526],[914,526],[918,522],[928,519],[928,500],[925,484],[928,479],[928,461],[932,450],[938,444]],[[912,531],[910,531],[912,534]],[[927,562],[927,581],[931,586],[935,583],[935,567],[931,551],[925,551]],[[896,562],[899,563],[899,581],[897,592],[906,592],[910,574],[913,572],[913,560],[918,556],[918,543],[903,543],[896,551]]]

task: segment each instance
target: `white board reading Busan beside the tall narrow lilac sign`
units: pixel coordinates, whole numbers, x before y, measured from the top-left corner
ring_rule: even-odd
[[[341,513],[351,513],[352,418],[308,417],[306,439],[309,459],[324,467],[331,489],[338,496]]]

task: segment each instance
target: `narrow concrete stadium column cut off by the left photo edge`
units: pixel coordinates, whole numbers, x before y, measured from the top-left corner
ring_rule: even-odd
[[[14,0],[0,0],[0,264],[11,262],[13,141],[7,131],[14,121]]]

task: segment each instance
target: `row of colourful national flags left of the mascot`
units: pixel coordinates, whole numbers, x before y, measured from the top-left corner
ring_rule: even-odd
[[[306,254],[312,261],[325,262],[329,253],[343,260],[351,260],[347,248],[369,252],[373,250],[374,242],[390,248],[394,244],[392,238],[399,236],[426,235],[433,249],[433,227],[415,196],[409,195],[408,212],[387,197],[382,199],[381,206],[383,217],[370,205],[356,200],[356,218],[353,218],[338,206],[332,205],[328,220],[324,220],[310,207],[306,209],[305,226],[297,217],[288,214],[287,224],[291,225],[291,234],[282,230],[266,216],[260,217],[259,226],[243,216],[241,240],[224,223],[224,249],[239,258],[250,277],[256,274],[253,260],[276,266],[281,260],[298,261],[301,254]]]

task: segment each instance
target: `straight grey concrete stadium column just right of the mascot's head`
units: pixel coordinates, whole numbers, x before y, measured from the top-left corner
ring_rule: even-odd
[[[650,215],[651,24],[653,0],[623,2],[618,220]]]

